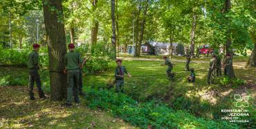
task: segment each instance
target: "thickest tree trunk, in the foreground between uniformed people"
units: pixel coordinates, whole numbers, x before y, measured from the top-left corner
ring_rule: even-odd
[[[43,5],[44,23],[48,35],[51,100],[60,101],[66,98],[66,75],[62,72],[65,67],[64,54],[66,54],[62,0],[43,0]],[[56,10],[52,10],[52,7]]]

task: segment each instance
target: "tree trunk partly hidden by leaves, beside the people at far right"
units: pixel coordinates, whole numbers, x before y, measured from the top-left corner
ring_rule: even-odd
[[[230,11],[230,8],[231,8],[230,0],[226,0],[225,1],[225,12],[228,13]],[[230,19],[227,19],[227,20],[230,21]],[[233,59],[233,51],[232,51],[232,48],[231,48],[232,41],[231,41],[231,32],[230,32],[230,30],[228,30],[226,35],[227,35],[227,41],[226,41],[226,46],[225,46],[226,54],[230,54],[231,59]],[[234,71],[234,68],[233,68],[233,64],[231,64],[230,77],[235,78],[235,71]]]

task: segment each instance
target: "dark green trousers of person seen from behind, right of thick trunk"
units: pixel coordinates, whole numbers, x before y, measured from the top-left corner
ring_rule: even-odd
[[[74,97],[79,102],[78,86],[79,86],[80,70],[68,70],[67,72],[67,97],[66,103],[71,103]]]

